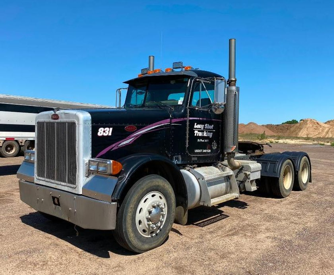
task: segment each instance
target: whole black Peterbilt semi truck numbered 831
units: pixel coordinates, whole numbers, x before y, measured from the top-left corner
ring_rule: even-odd
[[[229,78],[173,63],[128,84],[123,108],[54,110],[36,117],[35,151],[17,177],[21,200],[82,228],[114,230],[145,252],[164,242],[188,210],[258,188],[286,197],[311,182],[305,152],[265,154],[238,142],[235,39]]]

